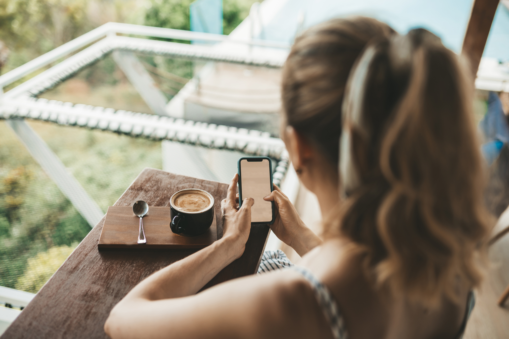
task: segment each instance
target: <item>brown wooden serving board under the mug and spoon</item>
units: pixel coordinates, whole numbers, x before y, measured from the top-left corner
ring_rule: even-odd
[[[143,229],[147,243],[138,244],[139,218],[131,206],[109,206],[101,236],[97,244],[99,251],[151,251],[203,249],[217,240],[216,218],[202,235],[185,237],[172,232],[169,207],[149,207],[143,217]]]

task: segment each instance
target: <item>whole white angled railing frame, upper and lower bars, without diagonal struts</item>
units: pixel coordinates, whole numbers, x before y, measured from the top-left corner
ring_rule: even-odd
[[[109,33],[138,34],[173,39],[200,39],[209,41],[230,41],[227,36],[189,32],[178,29],[138,26],[120,23],[108,23],[75,40],[66,49],[67,52],[94,41],[97,37],[107,36],[91,46],[61,61],[61,63],[23,82],[0,97],[0,117],[32,118],[54,121],[62,125],[86,126],[88,128],[110,130],[132,136],[146,136],[155,139],[178,140],[192,144],[200,144],[214,148],[229,148],[241,150],[251,154],[270,155],[278,159],[284,150],[284,143],[278,138],[272,138],[268,133],[248,131],[226,126],[216,126],[202,122],[185,121],[150,114],[115,111],[103,107],[90,105],[63,103],[58,101],[36,100],[34,97],[49,88],[69,78],[81,69],[95,63],[99,58],[114,50],[132,51],[159,55],[187,57],[190,59],[204,59],[241,63],[256,66],[281,67],[285,54],[265,55],[237,51],[231,48],[215,48],[214,46],[200,46],[166,41],[147,40],[132,37],[121,37]],[[93,34],[92,34],[93,33]],[[242,43],[259,42],[242,41]],[[271,43],[260,42],[261,45]],[[279,47],[289,47],[278,45]],[[221,47],[221,46],[217,46]],[[45,54],[46,59],[33,63],[30,69],[41,66],[44,62],[62,55],[64,51]],[[45,61],[46,60],[46,61]],[[36,60],[33,60],[36,61]],[[32,63],[32,61],[30,61]],[[28,63],[28,64],[30,64]],[[25,64],[24,66],[26,66]],[[23,67],[23,66],[22,66]],[[22,68],[20,67],[20,68]],[[17,71],[5,74],[4,83],[13,81],[17,76],[28,72]],[[16,72],[15,72],[16,71]],[[5,78],[9,76],[8,78]],[[213,140],[213,141],[211,141]]]

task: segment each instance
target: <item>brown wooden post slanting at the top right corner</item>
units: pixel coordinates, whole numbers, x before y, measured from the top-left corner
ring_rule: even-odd
[[[491,24],[498,7],[498,0],[473,0],[472,12],[468,20],[461,54],[470,61],[470,68],[475,78],[483,55]]]

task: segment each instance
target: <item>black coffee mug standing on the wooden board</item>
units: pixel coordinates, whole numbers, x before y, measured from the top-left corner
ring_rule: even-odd
[[[207,196],[210,200],[209,206],[199,212],[185,212],[175,207],[174,200],[178,195],[189,192],[189,193],[201,193]],[[205,233],[212,225],[214,220],[214,197],[209,192],[199,189],[186,189],[181,190],[170,198],[170,216],[172,222],[169,227],[172,232],[178,235],[187,237],[193,237]]]

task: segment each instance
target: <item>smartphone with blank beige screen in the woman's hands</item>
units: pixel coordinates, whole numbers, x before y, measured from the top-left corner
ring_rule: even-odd
[[[243,198],[253,198],[251,224],[272,224],[274,222],[274,202],[263,197],[272,192],[272,162],[268,157],[240,158],[239,206]]]

